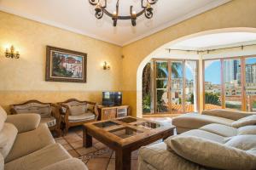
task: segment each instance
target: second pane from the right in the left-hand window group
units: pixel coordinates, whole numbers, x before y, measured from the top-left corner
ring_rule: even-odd
[[[183,112],[183,62],[171,63],[172,113]]]

